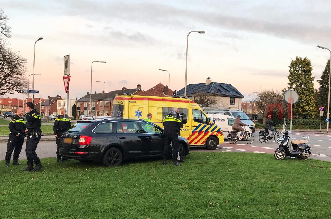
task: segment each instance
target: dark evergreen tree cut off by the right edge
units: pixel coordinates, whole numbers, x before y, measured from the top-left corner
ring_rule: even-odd
[[[330,74],[330,59],[326,62],[326,66],[324,71],[322,72],[321,79],[317,80],[320,87],[318,89],[318,99],[317,107],[324,107],[324,115],[322,116],[323,119],[327,116],[327,109],[328,109],[328,95],[329,95],[329,74]],[[330,104],[331,106],[331,104]],[[318,112],[319,117],[319,112]]]

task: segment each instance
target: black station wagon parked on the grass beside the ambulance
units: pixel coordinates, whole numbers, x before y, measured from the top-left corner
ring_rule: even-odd
[[[60,155],[115,167],[123,160],[161,157],[164,140],[161,127],[142,119],[81,120],[61,136]],[[181,136],[179,142],[179,155],[184,158],[190,153],[190,145]]]

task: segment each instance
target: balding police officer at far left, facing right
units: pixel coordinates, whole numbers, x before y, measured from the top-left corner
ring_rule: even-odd
[[[10,130],[10,134],[7,144],[6,167],[9,167],[9,162],[12,158],[12,153],[14,150],[13,165],[20,165],[18,159],[24,143],[24,130],[26,129],[25,121],[22,117],[23,114],[23,108],[18,108],[16,115],[13,115],[9,122],[8,128]]]

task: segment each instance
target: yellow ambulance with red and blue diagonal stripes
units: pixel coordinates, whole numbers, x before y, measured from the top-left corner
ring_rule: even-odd
[[[163,127],[163,118],[174,108],[179,109],[183,118],[184,127],[180,134],[187,138],[190,146],[213,150],[224,142],[222,129],[210,120],[198,104],[186,98],[117,94],[113,101],[112,117],[145,119],[148,113],[152,113],[152,122]]]

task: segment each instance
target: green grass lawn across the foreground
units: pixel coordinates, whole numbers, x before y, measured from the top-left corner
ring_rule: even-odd
[[[25,164],[25,161],[21,160]],[[41,160],[0,165],[1,218],[330,218],[331,163],[272,154],[191,153],[116,168]]]

